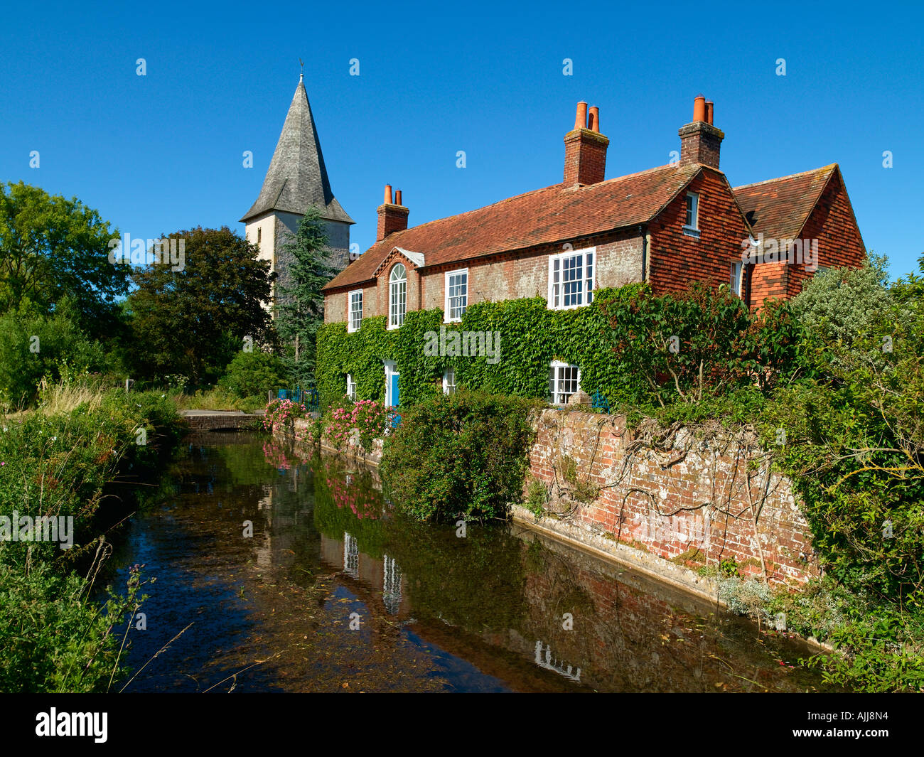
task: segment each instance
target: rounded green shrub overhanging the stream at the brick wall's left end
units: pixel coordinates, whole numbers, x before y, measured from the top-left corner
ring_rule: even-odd
[[[460,390],[402,409],[382,461],[395,507],[420,520],[506,519],[523,494],[536,404]]]

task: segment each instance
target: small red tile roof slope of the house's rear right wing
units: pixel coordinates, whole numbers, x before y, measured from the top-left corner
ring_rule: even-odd
[[[837,170],[837,164],[833,163],[814,171],[746,184],[732,191],[756,233],[767,238],[796,239]]]

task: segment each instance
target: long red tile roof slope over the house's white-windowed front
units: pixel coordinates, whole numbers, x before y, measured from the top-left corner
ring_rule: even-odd
[[[324,289],[370,281],[395,247],[423,253],[425,264],[431,266],[643,224],[659,214],[702,169],[699,164],[663,165],[586,187],[555,184],[412,226],[376,242]]]

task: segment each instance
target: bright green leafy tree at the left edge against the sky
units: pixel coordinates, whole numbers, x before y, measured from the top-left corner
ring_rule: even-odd
[[[76,197],[50,196],[28,184],[0,184],[0,311],[31,303],[43,315],[68,296],[79,326],[110,336],[116,299],[128,292],[128,266],[109,262],[119,238]]]

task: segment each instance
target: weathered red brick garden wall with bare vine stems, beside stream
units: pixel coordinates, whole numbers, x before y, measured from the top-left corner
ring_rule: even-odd
[[[762,554],[767,578],[777,584],[817,575],[791,483],[768,475],[765,459],[747,480],[745,459],[688,432],[663,451],[633,450],[621,416],[549,409],[535,422],[530,476],[546,484],[546,507],[564,514],[588,543],[603,536],[668,560],[683,556],[675,561],[689,568],[732,558],[739,572],[757,576]],[[573,460],[577,485],[566,479],[565,458]],[[581,493],[582,483],[590,485],[590,496],[597,494],[592,501]],[[756,525],[751,503],[760,510]]]

